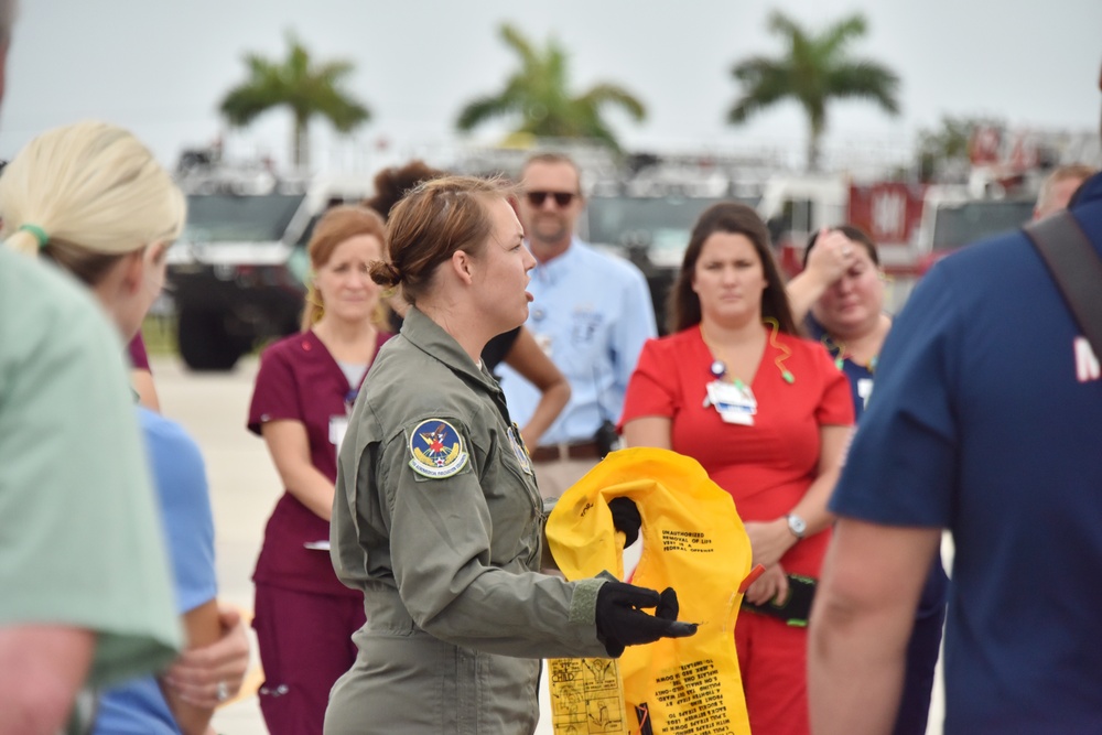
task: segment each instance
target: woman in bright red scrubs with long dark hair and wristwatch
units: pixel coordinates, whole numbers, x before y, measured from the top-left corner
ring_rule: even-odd
[[[754,563],[766,566],[746,601],[768,609],[819,575],[827,499],[853,424],[850,386],[822,345],[798,336],[768,231],[749,207],[701,215],[670,302],[671,334],[646,344],[628,383],[624,439],[698,460],[731,494]],[[738,616],[754,732],[809,732],[799,617]]]

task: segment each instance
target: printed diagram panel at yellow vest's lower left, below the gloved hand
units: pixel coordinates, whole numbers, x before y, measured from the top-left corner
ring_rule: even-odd
[[[619,666],[614,659],[548,659],[555,735],[627,734]]]

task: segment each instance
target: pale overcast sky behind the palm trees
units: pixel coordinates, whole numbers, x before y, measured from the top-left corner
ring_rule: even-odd
[[[828,145],[909,148],[944,115],[983,115],[1015,127],[1098,130],[1102,1],[1025,0],[22,0],[0,115],[0,156],[45,128],[96,117],[133,130],[165,162],[219,134],[230,153],[289,158],[290,118],[271,112],[227,131],[216,108],[244,79],[246,51],[278,56],[293,29],[318,57],[356,65],[348,90],[372,110],[352,139],[314,132],[315,162],[431,151],[454,139],[472,97],[494,93],[516,60],[501,21],[571,53],[581,90],[616,82],[647,105],[636,125],[611,120],[628,148],[803,150],[806,123],[784,104],[732,128],[738,89],[730,69],[779,41],[779,8],[809,26],[861,11],[869,33],[855,55],[903,78],[903,114],[863,102],[831,108]],[[475,133],[491,142],[504,127]],[[386,145],[387,153],[380,153]],[[374,156],[374,158],[372,158]]]

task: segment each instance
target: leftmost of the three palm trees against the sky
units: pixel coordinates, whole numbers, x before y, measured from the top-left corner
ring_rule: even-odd
[[[289,53],[282,61],[246,54],[249,78],[230,89],[219,109],[233,126],[246,126],[273,107],[287,106],[294,116],[293,149],[295,166],[310,163],[307,130],[314,116],[326,118],[339,132],[349,132],[370,119],[370,111],[341,89],[341,82],[353,71],[347,61],[315,64],[310,52],[294,36],[287,34]]]

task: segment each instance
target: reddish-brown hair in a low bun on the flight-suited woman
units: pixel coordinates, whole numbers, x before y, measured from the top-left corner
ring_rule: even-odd
[[[390,213],[386,262],[371,266],[383,287],[400,285],[417,304],[432,285],[436,268],[463,250],[478,256],[493,229],[487,201],[508,199],[514,187],[504,179],[445,176],[420,184]]]

